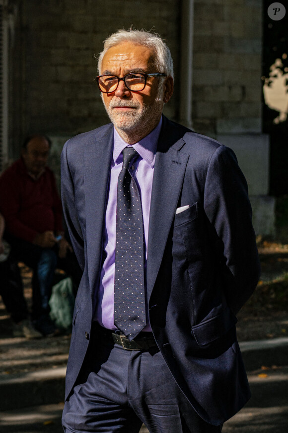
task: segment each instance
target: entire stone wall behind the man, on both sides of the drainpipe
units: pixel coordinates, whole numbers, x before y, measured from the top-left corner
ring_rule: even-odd
[[[118,28],[153,28],[167,40],[175,88],[164,112],[178,120],[185,0],[13,2],[17,29],[10,135],[19,145],[27,133],[50,135],[56,173],[68,137],[109,121],[93,81],[95,57],[103,40]],[[234,149],[253,197],[266,196],[269,184],[269,137],[262,135],[261,121],[262,26],[261,0],[194,1],[193,128]],[[14,155],[16,146],[13,142]]]

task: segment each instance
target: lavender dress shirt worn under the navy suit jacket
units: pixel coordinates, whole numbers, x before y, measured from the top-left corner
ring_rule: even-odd
[[[139,157],[133,163],[132,174],[138,185],[143,211],[144,221],[144,275],[146,276],[148,226],[151,201],[151,190],[155,154],[157,142],[161,130],[162,118],[153,131],[133,147],[139,153]],[[117,182],[122,170],[124,147],[129,146],[114,128],[114,149],[111,158],[110,184],[108,188],[108,200],[105,216],[105,230],[103,237],[103,266],[101,270],[100,283],[96,293],[97,303],[94,320],[108,329],[116,329],[114,325],[114,276],[115,276],[115,246],[116,246],[116,203],[117,203]],[[145,278],[146,286],[146,278]],[[145,287],[146,290],[146,287]],[[144,331],[151,331],[148,321],[148,310],[146,305],[146,326]]]

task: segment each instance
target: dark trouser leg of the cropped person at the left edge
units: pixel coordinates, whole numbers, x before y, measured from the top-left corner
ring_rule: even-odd
[[[7,312],[15,322],[28,317],[18,263],[11,257],[0,263],[0,295]]]

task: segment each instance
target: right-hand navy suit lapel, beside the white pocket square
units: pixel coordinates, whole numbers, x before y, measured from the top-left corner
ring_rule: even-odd
[[[175,216],[189,158],[189,155],[179,152],[185,144],[182,137],[175,135],[175,129],[165,125],[167,119],[164,118],[163,123],[162,130],[165,134],[160,136],[156,152],[149,216],[147,248],[148,300],[155,284],[168,234]],[[169,129],[171,130],[169,131]]]

